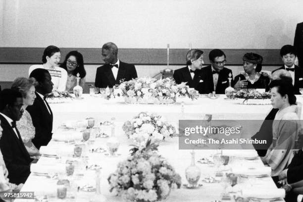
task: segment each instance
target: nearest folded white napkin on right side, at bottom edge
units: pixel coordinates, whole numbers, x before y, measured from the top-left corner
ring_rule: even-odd
[[[274,199],[284,198],[285,190],[278,188],[251,188],[242,190],[243,198],[257,198],[257,199]]]

